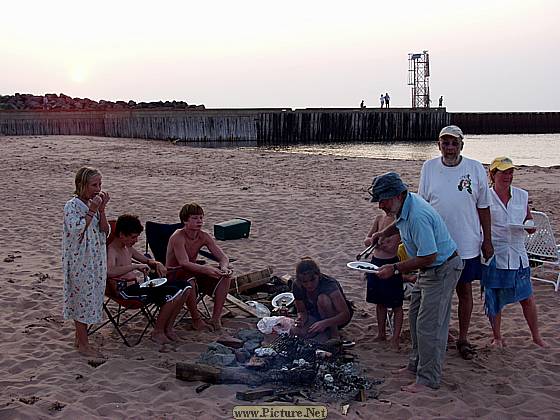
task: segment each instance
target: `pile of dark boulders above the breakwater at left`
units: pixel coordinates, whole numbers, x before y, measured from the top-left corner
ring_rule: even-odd
[[[119,109],[205,109],[204,105],[189,105],[184,101],[93,101],[88,98],[71,98],[61,93],[47,93],[44,96],[28,93],[0,95],[0,110],[45,110],[45,111],[105,111]]]

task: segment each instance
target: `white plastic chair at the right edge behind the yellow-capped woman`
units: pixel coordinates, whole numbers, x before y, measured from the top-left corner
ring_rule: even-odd
[[[550,226],[550,220],[546,213],[533,211],[533,219],[535,221],[536,231],[527,236],[525,240],[525,249],[529,255],[529,260],[542,265],[545,273],[558,273],[556,280],[549,280],[535,275],[531,279],[551,283],[554,285],[554,291],[560,288],[560,245],[554,239],[554,232]]]

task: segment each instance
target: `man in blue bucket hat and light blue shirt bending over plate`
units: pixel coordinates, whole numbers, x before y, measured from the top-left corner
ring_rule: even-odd
[[[402,390],[437,389],[447,347],[451,299],[463,262],[441,216],[422,197],[409,192],[399,174],[376,176],[369,193],[372,202],[395,216],[395,223],[375,233],[372,243],[400,233],[410,256],[406,261],[380,267],[377,275],[387,279],[419,270],[409,309],[412,351],[408,366],[402,369],[415,373],[416,381]]]

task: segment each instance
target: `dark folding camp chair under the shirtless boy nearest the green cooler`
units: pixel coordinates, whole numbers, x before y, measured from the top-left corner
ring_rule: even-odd
[[[181,229],[184,226],[183,223],[157,223],[157,222],[146,222],[146,254],[148,253],[148,247],[152,251],[154,258],[165,264],[165,260],[167,257],[167,244],[169,242],[169,238],[171,235],[177,230]],[[199,255],[202,255],[205,258],[208,258],[212,261],[217,261],[217,258],[210,252],[200,250]],[[231,259],[230,261],[234,261]],[[197,260],[197,263],[203,264],[205,261]],[[208,306],[206,306],[206,302],[204,301],[205,294],[202,292],[198,292],[196,297],[196,303],[202,303],[204,307],[205,313],[204,315],[207,318],[210,318],[210,311],[208,310]]]

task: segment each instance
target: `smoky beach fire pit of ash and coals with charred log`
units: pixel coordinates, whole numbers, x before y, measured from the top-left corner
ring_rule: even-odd
[[[362,375],[351,355],[344,353],[340,341],[317,343],[288,334],[254,350],[242,367],[214,367],[203,364],[177,363],[176,376],[187,381],[209,383],[244,383],[252,386],[270,384],[276,392],[254,391],[264,395],[286,395],[282,387],[290,386],[292,396],[301,394],[310,401],[365,400],[377,396],[372,381]],[[243,393],[242,393],[243,394]],[[239,396],[238,396],[239,397]],[[246,398],[242,398],[246,399]]]

